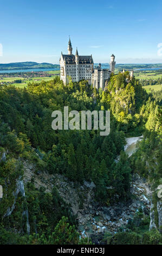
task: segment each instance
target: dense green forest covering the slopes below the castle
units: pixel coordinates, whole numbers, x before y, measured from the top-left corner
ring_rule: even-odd
[[[109,109],[110,134],[100,136],[96,130],[52,130],[51,113],[63,112],[64,106],[69,106],[69,111]],[[112,75],[104,92],[90,87],[86,81],[71,81],[64,86],[59,77],[49,82],[29,83],[24,89],[2,86],[0,118],[1,244],[90,243],[87,239],[80,240],[77,216],[55,186],[52,192],[47,192],[42,187],[36,188],[31,180],[23,188],[24,163],[33,164],[37,176],[39,172],[64,176],[74,182],[76,190],[78,184],[93,182],[95,200],[102,205],[112,205],[116,200],[127,202],[132,197],[130,182],[134,173],[154,187],[162,184],[159,96],[148,95],[138,80],[131,80],[129,72]],[[128,158],[124,152],[125,137],[141,135],[144,138],[139,150]],[[157,202],[157,196],[154,197]],[[157,211],[156,223],[155,243],[160,243]],[[127,231],[133,237],[140,236],[137,243],[145,243],[145,236],[154,243],[151,240],[154,233],[141,236],[138,230],[133,230],[133,225]],[[122,234],[117,235],[107,235],[111,239],[106,239],[109,243],[124,243]]]

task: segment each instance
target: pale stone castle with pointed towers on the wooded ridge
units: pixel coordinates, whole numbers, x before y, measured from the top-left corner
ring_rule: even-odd
[[[92,84],[96,89],[105,88],[105,83],[108,81],[110,75],[115,70],[115,56],[111,56],[109,62],[110,70],[102,69],[101,64],[94,68],[92,54],[90,56],[80,56],[77,48],[75,55],[73,54],[72,43],[69,38],[68,54],[62,54],[60,58],[60,80],[64,84],[69,83],[69,77],[73,82],[79,82],[84,79],[88,84]]]

